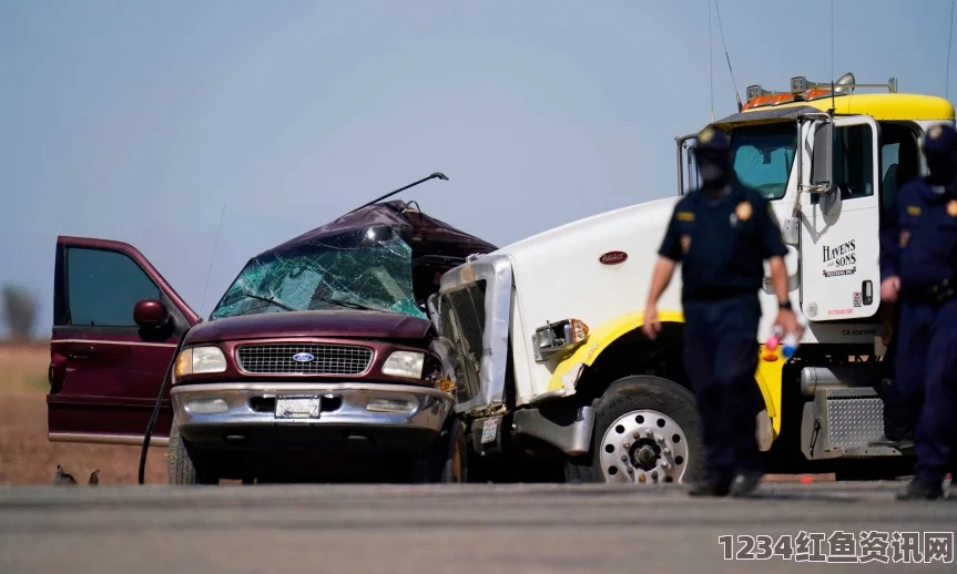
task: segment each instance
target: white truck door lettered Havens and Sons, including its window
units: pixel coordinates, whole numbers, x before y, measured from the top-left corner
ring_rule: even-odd
[[[812,321],[872,317],[880,304],[879,127],[853,116],[835,119],[833,130],[832,191],[803,194],[801,206],[801,308]],[[827,133],[818,124],[814,164],[827,161]]]

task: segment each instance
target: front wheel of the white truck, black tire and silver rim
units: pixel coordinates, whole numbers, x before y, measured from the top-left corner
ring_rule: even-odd
[[[643,485],[701,476],[701,420],[684,387],[661,377],[624,377],[604,391],[594,410],[591,450],[568,460],[567,481]]]

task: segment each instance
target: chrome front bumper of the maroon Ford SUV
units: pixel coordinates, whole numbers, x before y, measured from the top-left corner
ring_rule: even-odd
[[[319,398],[318,417],[277,418],[276,399],[285,397]],[[184,439],[198,448],[243,449],[418,449],[440,432],[454,401],[438,389],[368,382],[182,385],[173,387],[170,398]],[[208,412],[216,399],[220,412]],[[377,411],[375,403],[381,400],[406,401],[409,408]],[[197,408],[203,403],[205,409]]]

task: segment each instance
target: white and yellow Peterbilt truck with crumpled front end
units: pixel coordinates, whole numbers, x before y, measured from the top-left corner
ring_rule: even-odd
[[[894,79],[857,84],[849,73],[826,84],[793,78],[784,92],[750,86],[746,100],[714,124],[730,132],[737,177],[773,205],[788,246],[791,298],[808,321],[790,360],[763,346],[777,306],[768,274],[753,394],[768,470],[801,472],[821,461],[906,469],[908,453],[869,445],[883,434],[878,390],[889,376],[878,219],[900,185],[924,173],[923,134],[953,125],[954,106],[898,93]],[[676,139],[678,195],[695,185],[692,139]],[[681,483],[700,475],[702,431],[682,367],[680,276],[659,304],[662,335],[649,341],[640,330],[676,201],[571,222],[470,257],[442,277],[429,305],[457,349],[455,410],[474,468],[508,468],[530,455],[529,468],[553,461],[569,481]]]

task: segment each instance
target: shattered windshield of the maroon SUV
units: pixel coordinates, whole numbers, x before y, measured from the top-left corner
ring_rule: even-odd
[[[318,309],[425,318],[413,295],[411,247],[378,226],[264,254],[246,265],[210,318]]]

